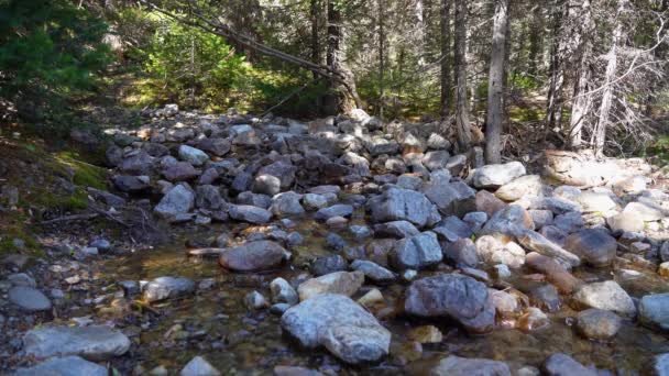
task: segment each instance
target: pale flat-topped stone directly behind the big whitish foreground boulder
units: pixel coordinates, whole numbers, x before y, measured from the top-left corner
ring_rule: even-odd
[[[299,300],[304,301],[322,294],[339,294],[348,297],[355,294],[364,283],[362,272],[334,272],[307,279],[297,287]]]

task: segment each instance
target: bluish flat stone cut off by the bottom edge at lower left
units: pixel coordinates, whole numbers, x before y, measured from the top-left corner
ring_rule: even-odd
[[[107,367],[79,356],[52,357],[30,368],[19,368],[14,376],[107,376]]]

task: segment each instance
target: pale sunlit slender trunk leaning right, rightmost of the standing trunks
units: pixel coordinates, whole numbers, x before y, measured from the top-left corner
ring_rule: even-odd
[[[615,27],[613,30],[613,37],[611,41],[611,49],[606,55],[606,73],[604,76],[604,91],[602,92],[602,103],[600,106],[600,118],[592,134],[592,145],[594,152],[599,156],[604,155],[604,145],[606,143],[606,129],[611,123],[610,112],[613,103],[613,89],[615,80],[615,73],[617,69],[617,48],[621,40],[623,38],[623,22],[621,20],[626,0],[618,0],[618,10],[615,20]]]

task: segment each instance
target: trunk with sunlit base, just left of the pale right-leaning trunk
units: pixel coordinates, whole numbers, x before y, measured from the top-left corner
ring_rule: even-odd
[[[569,126],[570,146],[578,148],[582,143],[583,128],[588,121],[588,114],[592,109],[592,96],[588,95],[590,87],[591,71],[590,57],[592,54],[591,35],[593,32],[592,14],[590,0],[584,0],[580,9],[580,18],[578,20],[579,38],[577,49],[577,79],[573,90],[573,102],[571,104],[571,119]]]

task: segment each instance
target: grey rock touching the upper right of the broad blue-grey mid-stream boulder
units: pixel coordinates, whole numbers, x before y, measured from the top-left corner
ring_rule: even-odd
[[[462,217],[476,210],[476,191],[462,181],[431,181],[423,188],[423,193],[443,215]]]

